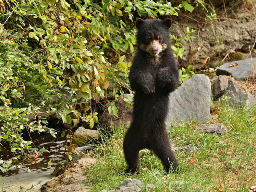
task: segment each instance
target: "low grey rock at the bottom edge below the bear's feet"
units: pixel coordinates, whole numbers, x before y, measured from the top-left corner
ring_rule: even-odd
[[[141,182],[137,179],[125,179],[121,182],[118,187],[111,188],[109,190],[102,190],[100,192],[138,192],[138,191],[150,191],[150,189],[155,189],[153,184],[147,184]]]

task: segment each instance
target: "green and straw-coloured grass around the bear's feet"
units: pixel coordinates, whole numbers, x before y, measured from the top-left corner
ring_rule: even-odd
[[[100,144],[91,155],[96,163],[85,167],[88,185],[93,191],[108,190],[119,186],[126,178],[153,183],[152,191],[234,191],[248,192],[256,185],[256,108],[233,109],[212,105],[213,120],[228,127],[229,132],[205,134],[196,131],[196,122],[171,126],[170,141],[175,146],[195,145],[198,150],[186,153],[178,151],[181,173],[166,175],[161,161],[150,151],[141,151],[141,171],[137,175],[126,175],[126,162],[122,150],[124,128],[113,130],[110,137]],[[194,164],[188,164],[191,158]],[[184,181],[182,186],[173,181]],[[143,190],[142,190],[143,191]]]

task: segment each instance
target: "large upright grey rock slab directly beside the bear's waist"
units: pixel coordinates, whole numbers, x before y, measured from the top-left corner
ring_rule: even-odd
[[[206,123],[212,119],[211,82],[204,74],[196,74],[170,94],[166,123],[195,120]]]

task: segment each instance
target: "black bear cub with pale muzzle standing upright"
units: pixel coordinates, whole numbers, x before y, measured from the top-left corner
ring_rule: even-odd
[[[169,93],[179,82],[179,70],[170,48],[171,20],[138,19],[138,52],[133,59],[129,80],[135,90],[133,120],[127,130],[123,150],[126,173],[139,170],[139,151],[147,148],[161,159],[167,173],[178,172],[178,161],[171,150],[165,119]]]

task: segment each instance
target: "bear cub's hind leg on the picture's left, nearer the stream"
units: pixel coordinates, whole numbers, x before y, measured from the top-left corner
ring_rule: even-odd
[[[132,130],[128,129],[124,137],[123,150],[125,160],[128,164],[125,173],[135,174],[139,171],[139,150],[141,147],[137,134],[133,134],[132,132]]]

